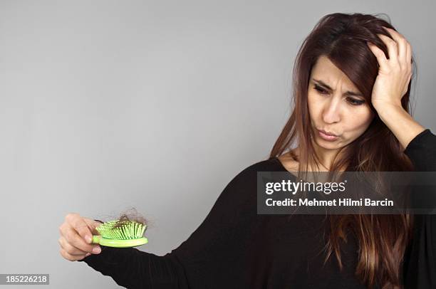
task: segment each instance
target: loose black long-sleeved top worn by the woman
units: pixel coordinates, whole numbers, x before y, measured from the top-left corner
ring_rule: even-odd
[[[416,171],[436,171],[436,135],[408,144]],[[256,172],[287,172],[279,159],[252,164],[224,188],[191,236],[165,256],[101,246],[81,261],[126,288],[365,288],[355,277],[358,244],[341,243],[325,266],[325,216],[256,214]],[[436,215],[416,215],[406,258],[406,288],[436,288]]]

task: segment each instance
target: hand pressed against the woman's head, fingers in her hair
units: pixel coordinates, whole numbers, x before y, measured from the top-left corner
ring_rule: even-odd
[[[412,48],[410,43],[397,31],[383,27],[390,33],[392,40],[383,34],[377,34],[388,47],[389,59],[377,46],[368,43],[370,51],[377,58],[379,69],[373,86],[371,103],[375,110],[386,105],[401,107],[401,98],[408,91],[412,76]]]

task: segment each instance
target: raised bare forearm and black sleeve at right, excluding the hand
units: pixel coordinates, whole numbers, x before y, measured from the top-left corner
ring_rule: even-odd
[[[399,104],[383,103],[375,109],[405,148],[414,170],[436,172],[436,135],[416,122]],[[405,288],[436,288],[436,215],[414,216],[403,278]]]

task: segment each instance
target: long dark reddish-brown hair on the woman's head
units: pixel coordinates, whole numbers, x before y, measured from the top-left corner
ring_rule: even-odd
[[[378,14],[379,15],[379,14]],[[313,31],[303,41],[296,56],[293,73],[294,109],[289,120],[271,149],[270,157],[279,157],[298,140],[299,172],[308,167],[318,167],[320,160],[311,141],[311,120],[308,112],[308,80],[311,69],[320,56],[326,56],[345,73],[365,97],[375,118],[356,140],[340,149],[333,161],[331,172],[346,168],[355,172],[402,172],[411,171],[412,163],[389,128],[380,120],[371,105],[371,92],[378,75],[378,61],[366,42],[374,43],[388,58],[388,49],[376,35],[392,38],[383,26],[395,28],[383,19],[370,14],[334,13],[323,16]],[[416,73],[416,64],[412,78]],[[409,112],[410,87],[401,104]],[[383,141],[381,141],[383,140]],[[346,240],[349,229],[358,240],[358,278],[369,287],[378,284],[383,288],[402,287],[402,266],[405,248],[410,241],[412,216],[403,215],[329,215],[326,241],[326,261],[334,253],[342,268],[339,244]]]

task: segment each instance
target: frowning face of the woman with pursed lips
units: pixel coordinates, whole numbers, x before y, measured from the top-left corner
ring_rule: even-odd
[[[327,86],[326,86],[327,85]],[[375,116],[360,91],[326,56],[318,58],[308,84],[315,144],[340,149],[363,134]],[[323,135],[319,130],[336,137]]]

